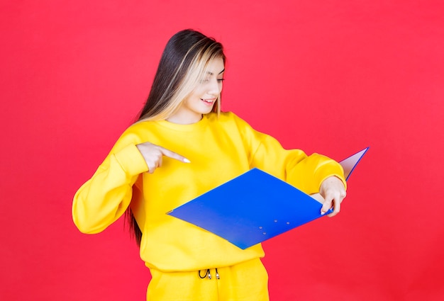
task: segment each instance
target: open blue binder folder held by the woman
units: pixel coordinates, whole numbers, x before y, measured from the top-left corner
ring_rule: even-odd
[[[367,149],[339,162],[346,179]],[[246,249],[325,216],[321,207],[318,200],[294,186],[251,169],[167,214]]]

